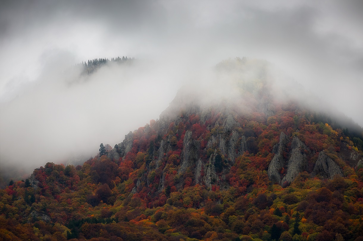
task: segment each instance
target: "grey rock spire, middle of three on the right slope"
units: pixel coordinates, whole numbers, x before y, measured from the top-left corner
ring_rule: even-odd
[[[297,136],[293,138],[291,149],[287,172],[285,177],[282,178],[281,183],[292,182],[299,173],[305,171],[307,168],[307,159],[304,150],[308,150],[308,148]]]

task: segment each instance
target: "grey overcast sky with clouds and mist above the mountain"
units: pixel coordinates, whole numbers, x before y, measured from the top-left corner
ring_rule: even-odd
[[[242,56],[275,64],[362,126],[362,12],[360,0],[1,1],[1,162],[113,146],[200,69]],[[105,69],[72,90],[34,87],[82,60],[123,55],[154,65]]]

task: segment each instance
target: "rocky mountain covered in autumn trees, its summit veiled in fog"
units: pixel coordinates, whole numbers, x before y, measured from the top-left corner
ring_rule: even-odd
[[[9,183],[0,238],[363,240],[362,127],[266,61],[214,71],[106,155]]]

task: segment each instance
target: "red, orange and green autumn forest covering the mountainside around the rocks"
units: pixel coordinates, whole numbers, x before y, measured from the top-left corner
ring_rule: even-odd
[[[83,166],[48,162],[29,179],[9,183],[0,190],[0,240],[363,240],[363,165],[349,165],[352,153],[355,163],[362,158],[361,137],[293,102],[275,102],[274,113],[264,114],[256,107],[264,96],[261,83],[243,86],[248,112],[216,107],[201,121],[181,110],[178,122],[151,120],[134,131],[130,151],[119,160],[107,157],[110,147],[102,144]],[[232,114],[238,125],[225,131]],[[200,175],[196,165],[179,171],[189,130],[199,147]],[[232,158],[220,146],[209,147],[213,135],[228,142],[233,132],[245,138],[243,153],[236,148]],[[301,149],[306,171],[283,186],[267,174],[281,132],[308,148]],[[344,177],[310,176],[321,151]],[[216,176],[208,186],[212,156]]]

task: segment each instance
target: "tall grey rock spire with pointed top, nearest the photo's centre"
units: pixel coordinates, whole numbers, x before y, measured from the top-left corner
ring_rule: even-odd
[[[189,130],[185,132],[183,145],[183,160],[181,161],[178,174],[185,173],[187,168],[196,164],[197,160],[199,159],[199,141],[192,139],[192,132]]]

